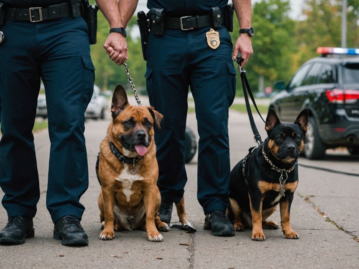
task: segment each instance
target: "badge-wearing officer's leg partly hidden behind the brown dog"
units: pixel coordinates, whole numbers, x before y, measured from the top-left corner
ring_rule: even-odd
[[[173,202],[183,197],[185,170],[185,129],[187,117],[187,41],[178,30],[166,30],[163,37],[150,34],[147,47],[146,86],[150,104],[163,114],[161,129],[155,129],[158,187],[162,203],[160,218],[169,223]]]

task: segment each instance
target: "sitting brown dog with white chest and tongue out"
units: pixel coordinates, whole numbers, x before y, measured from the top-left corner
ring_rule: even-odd
[[[143,229],[149,241],[160,242],[157,228],[169,231],[169,226],[157,215],[161,197],[153,126],[160,128],[163,115],[153,107],[131,106],[121,85],[113,92],[111,113],[96,171],[101,184],[100,239],[113,239],[114,230]],[[183,198],[176,207],[180,221],[188,222]]]

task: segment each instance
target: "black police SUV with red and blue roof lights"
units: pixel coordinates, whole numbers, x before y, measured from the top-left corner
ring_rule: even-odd
[[[320,57],[304,63],[289,84],[276,83],[282,91],[269,108],[283,122],[294,122],[309,111],[304,155],[322,159],[327,148],[346,146],[359,154],[359,49],[317,49]]]

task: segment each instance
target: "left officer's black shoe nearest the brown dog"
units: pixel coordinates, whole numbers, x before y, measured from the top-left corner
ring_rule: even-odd
[[[62,245],[88,245],[87,233],[75,216],[64,216],[53,227],[53,238],[62,240]]]

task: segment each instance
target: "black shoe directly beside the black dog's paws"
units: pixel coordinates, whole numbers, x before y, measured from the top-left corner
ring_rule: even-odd
[[[223,210],[216,209],[208,213],[203,228],[212,230],[214,236],[234,236],[234,226]]]

